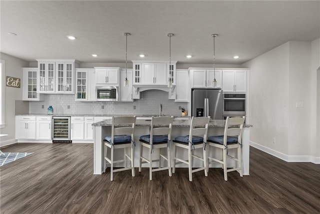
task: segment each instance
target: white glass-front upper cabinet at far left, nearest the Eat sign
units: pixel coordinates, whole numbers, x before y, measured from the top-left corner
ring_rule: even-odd
[[[22,68],[22,100],[43,100],[43,95],[37,90],[37,73],[37,68]]]

